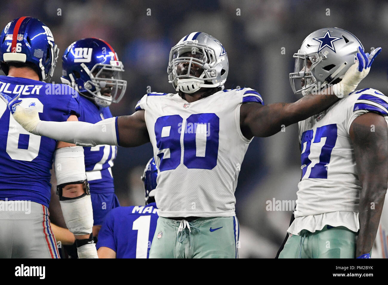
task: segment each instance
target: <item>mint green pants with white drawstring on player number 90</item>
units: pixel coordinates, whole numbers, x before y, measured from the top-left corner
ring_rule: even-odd
[[[238,258],[236,217],[199,218],[188,223],[159,217],[149,258]]]

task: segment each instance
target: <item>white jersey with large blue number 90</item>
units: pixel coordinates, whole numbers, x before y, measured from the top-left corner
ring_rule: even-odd
[[[240,130],[240,105],[248,102],[263,104],[251,88],[192,103],[178,94],[148,93],[137,103],[158,166],[159,216],[235,216],[237,177],[251,142]]]

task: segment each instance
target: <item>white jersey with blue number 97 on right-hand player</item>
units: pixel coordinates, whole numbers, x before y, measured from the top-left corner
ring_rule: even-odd
[[[314,232],[325,225],[359,230],[361,184],[349,129],[353,120],[366,112],[377,112],[388,121],[387,109],[387,97],[365,88],[299,122],[302,179],[289,233]]]

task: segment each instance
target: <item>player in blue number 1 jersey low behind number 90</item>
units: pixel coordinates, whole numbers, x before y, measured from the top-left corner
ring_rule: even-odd
[[[154,198],[157,176],[152,157],[141,177],[145,206],[118,207],[107,214],[96,245],[99,258],[148,258],[158,220]]]

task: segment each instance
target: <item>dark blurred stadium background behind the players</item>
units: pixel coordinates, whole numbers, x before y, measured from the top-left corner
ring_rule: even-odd
[[[2,0],[0,15],[2,28],[21,16],[45,22],[60,56],[80,38],[97,37],[110,43],[124,63],[128,80],[125,97],[111,105],[113,116],[132,114],[147,88],[174,91],[166,73],[168,54],[180,38],[193,31],[209,33],[223,43],[229,57],[225,88],[249,86],[270,104],[299,98],[291,90],[288,74],[294,67],[293,53],[303,39],[319,28],[343,28],[359,38],[365,51],[383,47],[359,87],[371,86],[388,94],[388,2],[383,0]],[[59,58],[53,77],[56,83],[61,82],[61,74]],[[144,204],[140,175],[151,156],[150,143],[119,148],[113,174],[121,206]],[[299,180],[296,124],[270,138],[253,140],[236,189],[240,257],[275,256],[291,211],[266,211],[266,201],[296,200]]]

